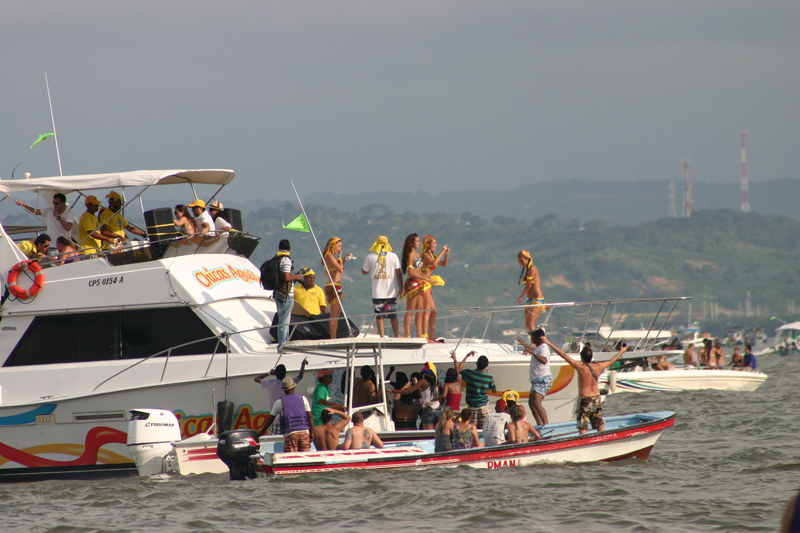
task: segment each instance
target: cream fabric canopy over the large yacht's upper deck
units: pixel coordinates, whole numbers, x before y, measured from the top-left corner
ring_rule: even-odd
[[[0,192],[6,194],[23,191],[52,190],[62,194],[92,189],[117,187],[149,187],[150,185],[175,185],[200,183],[227,185],[236,173],[233,170],[135,170],[111,174],[86,174],[83,176],[55,176],[28,180],[0,180]]]

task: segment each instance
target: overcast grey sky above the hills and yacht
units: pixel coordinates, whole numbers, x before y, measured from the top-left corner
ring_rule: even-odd
[[[0,177],[227,196],[800,176],[800,2],[0,3]]]

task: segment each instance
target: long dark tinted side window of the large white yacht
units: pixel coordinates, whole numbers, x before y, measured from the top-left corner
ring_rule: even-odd
[[[40,316],[3,366],[137,359],[213,336],[189,307]],[[211,353],[216,345],[211,339],[171,355]]]

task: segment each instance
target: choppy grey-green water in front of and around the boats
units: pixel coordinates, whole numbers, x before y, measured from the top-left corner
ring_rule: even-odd
[[[800,486],[800,358],[759,365],[752,393],[611,397],[609,415],[678,413],[646,462],[0,485],[0,530],[775,531]]]

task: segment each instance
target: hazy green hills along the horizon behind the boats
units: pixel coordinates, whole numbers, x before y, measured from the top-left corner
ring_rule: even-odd
[[[435,292],[440,308],[514,305],[522,249],[531,252],[549,302],[690,296],[699,317],[704,301],[716,302],[720,314],[738,311],[748,291],[753,309],[759,306],[763,314],[785,310],[787,299],[800,297],[800,222],[785,216],[702,210],[689,219],[620,226],[556,215],[526,222],[470,213],[400,214],[385,205],[359,213],[316,205],[307,211],[320,245],[336,235],[345,251],[358,256],[345,270],[345,309],[353,314],[371,311],[369,280],[360,272],[371,244],[386,235],[399,255],[412,232],[430,233],[452,249],[450,266],[437,271],[446,281]],[[264,237],[252,258],[256,265],[288,238],[296,267],[319,270],[310,234],[281,227],[297,214],[287,203],[246,215],[245,229]],[[498,335],[497,328],[491,335]]]

